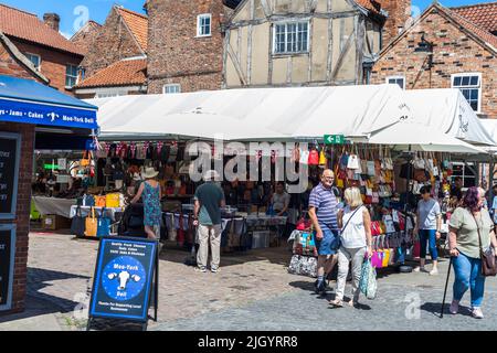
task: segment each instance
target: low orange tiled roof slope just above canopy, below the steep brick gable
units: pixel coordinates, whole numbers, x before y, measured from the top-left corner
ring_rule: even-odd
[[[123,60],[84,79],[76,88],[145,85],[147,60]]]

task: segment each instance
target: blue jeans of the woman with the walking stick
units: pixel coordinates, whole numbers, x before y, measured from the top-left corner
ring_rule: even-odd
[[[482,306],[485,291],[485,277],[482,275],[482,260],[479,258],[468,257],[462,253],[452,258],[454,265],[454,300],[463,299],[464,293],[470,289],[472,307]]]

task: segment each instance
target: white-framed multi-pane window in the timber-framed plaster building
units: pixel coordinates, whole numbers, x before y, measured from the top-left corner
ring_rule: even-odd
[[[306,53],[309,51],[309,22],[276,23],[274,54]]]

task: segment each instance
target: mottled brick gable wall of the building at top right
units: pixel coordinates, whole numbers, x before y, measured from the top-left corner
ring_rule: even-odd
[[[415,53],[424,33],[434,43],[434,67],[426,65],[426,53]],[[482,113],[497,118],[497,60],[442,14],[432,12],[408,31],[374,65],[371,83],[383,84],[388,76],[405,76],[408,89],[451,88],[451,75],[482,73]]]

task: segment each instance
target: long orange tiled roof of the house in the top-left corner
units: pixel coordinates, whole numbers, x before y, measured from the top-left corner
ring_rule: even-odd
[[[8,36],[83,55],[82,51],[35,14],[0,3],[0,30]]]

